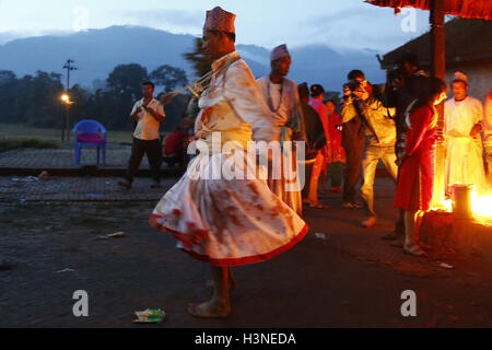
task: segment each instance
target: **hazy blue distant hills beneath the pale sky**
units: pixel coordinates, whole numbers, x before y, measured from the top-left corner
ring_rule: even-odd
[[[194,38],[140,26],[110,26],[66,36],[22,38],[0,46],[0,70],[12,70],[19,77],[33,74],[36,70],[63,74],[61,67],[71,58],[79,68],[71,74],[71,84],[85,88],[93,88],[96,80],[99,81],[95,85],[101,85],[101,81],[121,63],[139,63],[149,72],[166,63],[192,74],[183,54],[192,49]],[[269,72],[269,49],[237,45],[237,50],[257,78]],[[288,78],[297,83],[320,83],[325,90],[340,91],[352,69],[362,69],[367,79],[376,83],[384,79],[375,52],[368,49],[337,51],[328,46],[312,45],[290,50],[293,62]]]

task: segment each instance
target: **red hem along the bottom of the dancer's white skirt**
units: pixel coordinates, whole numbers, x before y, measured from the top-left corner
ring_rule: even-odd
[[[159,219],[161,218],[160,215],[156,214],[152,214],[151,219]],[[162,229],[164,229],[165,231],[168,231],[169,233],[174,233],[174,234],[184,234],[181,232],[177,232],[174,231],[169,228],[166,228],[164,225],[161,226]],[[210,258],[207,255],[200,255],[198,253],[195,253],[192,250],[187,250],[184,248],[180,248],[183,252],[189,254],[192,258],[203,261],[203,262],[209,262],[211,265],[214,266],[241,266],[241,265],[247,265],[247,264],[255,264],[255,262],[260,262],[260,261],[265,261],[268,259],[271,259],[273,257],[276,257],[277,255],[289,250],[290,248],[292,248],[294,245],[296,245],[297,243],[301,242],[301,240],[304,238],[304,236],[307,234],[307,232],[309,231],[309,225],[306,223],[304,225],[304,228],[297,233],[297,235],[291,240],[291,242],[289,242],[285,245],[282,245],[281,247],[278,247],[277,249],[273,249],[269,253],[266,254],[260,254],[260,255],[254,255],[254,256],[247,256],[244,258],[226,258],[226,259],[214,259],[214,258]],[[176,236],[175,236],[176,237]],[[180,241],[183,244],[188,244],[185,243],[184,241],[179,240],[179,237],[176,237],[176,240]]]

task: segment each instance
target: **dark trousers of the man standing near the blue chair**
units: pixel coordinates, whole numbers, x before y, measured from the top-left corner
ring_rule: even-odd
[[[162,147],[159,139],[140,140],[133,138],[130,161],[128,162],[127,175],[125,177],[130,182],[133,180],[144,153],[147,154],[147,160],[152,170],[152,177],[159,183],[161,179],[162,164]]]

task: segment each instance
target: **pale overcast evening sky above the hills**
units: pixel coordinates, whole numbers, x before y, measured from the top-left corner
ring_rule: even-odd
[[[325,44],[389,51],[429,30],[429,12],[395,16],[362,0],[0,0],[0,45],[44,34],[143,25],[200,35],[204,11],[234,12],[238,44]],[[410,11],[410,10],[409,10]]]

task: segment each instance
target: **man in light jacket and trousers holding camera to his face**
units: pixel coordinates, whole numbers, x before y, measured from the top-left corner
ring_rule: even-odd
[[[359,118],[360,127],[367,142],[363,153],[364,184],[361,188],[364,201],[365,219],[361,222],[364,228],[372,228],[376,223],[376,212],[374,211],[374,177],[379,160],[386,166],[391,178],[396,182],[397,165],[395,154],[396,128],[391,114],[394,109],[385,108],[379,98],[375,97],[373,85],[366,80],[360,70],[349,73],[349,83],[343,86],[344,104],[342,108],[342,122],[349,124]],[[364,143],[358,140],[356,147],[363,150]],[[356,152],[360,152],[358,149]],[[347,151],[347,150],[345,150]],[[356,153],[352,152],[352,154]],[[347,152],[348,163],[349,152]],[[358,154],[358,153],[356,153]]]

